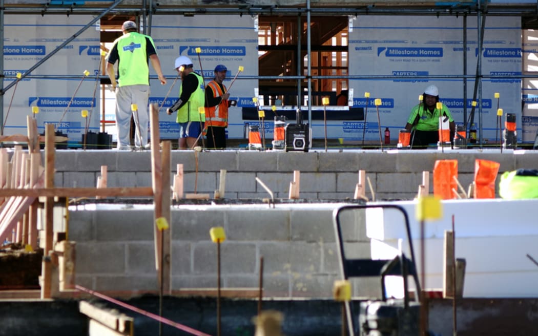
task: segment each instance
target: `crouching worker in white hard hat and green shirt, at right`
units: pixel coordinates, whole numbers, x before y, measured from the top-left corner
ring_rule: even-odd
[[[405,129],[413,131],[411,135],[412,148],[426,148],[430,144],[437,144],[439,141],[439,118],[442,113],[444,118],[449,120],[450,139],[454,138],[456,124],[450,110],[443,104],[442,110],[436,108],[439,102],[439,90],[435,85],[429,85],[424,90],[423,101],[416,105],[409,115]]]

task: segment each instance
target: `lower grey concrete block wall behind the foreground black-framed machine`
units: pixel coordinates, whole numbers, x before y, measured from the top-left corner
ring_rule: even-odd
[[[339,275],[332,211],[343,204],[189,206],[172,211],[172,289],[216,287],[216,244],[223,226],[222,285],[258,286],[264,258],[267,297],[332,297]],[[76,241],[76,282],[100,291],[158,290],[150,206],[87,210],[71,207],[69,240]],[[346,248],[370,258],[364,223],[346,226]],[[380,295],[379,279],[354,282],[358,296]]]

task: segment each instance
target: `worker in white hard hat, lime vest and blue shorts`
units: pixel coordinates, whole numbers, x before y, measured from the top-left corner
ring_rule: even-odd
[[[193,70],[193,62],[187,56],[175,60],[175,70],[181,74],[179,99],[166,113],[171,115],[178,111],[176,121],[179,123],[179,149],[194,148],[203,131],[206,115],[203,111],[206,103],[203,77]],[[200,112],[202,108],[202,112]]]

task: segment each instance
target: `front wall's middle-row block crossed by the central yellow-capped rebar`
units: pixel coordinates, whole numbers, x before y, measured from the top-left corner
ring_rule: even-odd
[[[217,274],[217,244],[199,242],[193,245],[195,274]],[[256,244],[223,242],[221,244],[221,274],[252,274],[256,272]]]

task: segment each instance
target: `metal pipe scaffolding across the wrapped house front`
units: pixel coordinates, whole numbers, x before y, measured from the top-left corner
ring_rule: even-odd
[[[312,16],[381,16],[381,15],[399,15],[399,16],[455,16],[455,17],[477,17],[477,29],[480,32],[478,34],[478,47],[480,52],[477,58],[477,68],[475,74],[469,74],[466,67],[466,34],[463,37],[463,74],[462,75],[428,75],[428,76],[411,76],[412,79],[421,78],[462,78],[463,79],[463,99],[467,101],[467,80],[470,78],[476,79],[475,88],[473,94],[473,100],[478,99],[478,118],[479,118],[479,134],[480,145],[482,145],[482,79],[483,78],[509,78],[509,79],[523,79],[523,78],[536,78],[533,74],[521,74],[515,76],[494,76],[485,75],[482,73],[482,60],[480,55],[482,54],[482,43],[484,36],[484,23],[486,16],[516,16],[522,18],[522,28],[525,27],[538,27],[538,6],[536,3],[526,2],[504,2],[504,3],[489,3],[488,1],[461,1],[461,2],[449,2],[449,3],[435,3],[435,2],[422,2],[422,1],[382,1],[372,2],[367,1],[336,1],[325,0],[323,2],[317,1],[290,1],[289,4],[281,5],[278,1],[271,1],[264,5],[258,4],[245,4],[244,2],[237,2],[237,4],[229,3],[226,5],[211,4],[207,1],[198,0],[196,5],[192,4],[192,1],[172,1],[166,0],[161,2],[154,2],[153,0],[116,0],[109,2],[108,6],[104,6],[103,2],[77,2],[77,1],[56,1],[52,0],[46,3],[18,3],[17,1],[0,0],[0,22],[4,22],[4,15],[27,15],[29,13],[45,15],[92,15],[95,16],[86,26],[81,28],[71,37],[68,37],[60,46],[47,54],[42,60],[38,61],[34,66],[28,69],[22,77],[28,78],[43,78],[43,75],[32,75],[32,71],[38,68],[43,62],[51,58],[56,52],[60,51],[64,46],[68,45],[70,41],[75,39],[79,34],[87,30],[88,27],[95,24],[98,20],[106,15],[112,16],[136,16],[142,20],[142,26],[144,31],[151,34],[151,27],[154,15],[180,15],[185,17],[191,16],[203,16],[203,15],[249,15],[255,16],[292,16],[297,17],[298,22],[301,22],[302,17],[306,17],[307,22],[307,71],[306,75],[300,73],[300,67],[297,69],[296,75],[288,76],[241,76],[239,79],[256,79],[256,80],[282,80],[285,77],[286,80],[297,81],[298,87],[298,102],[300,101],[301,83],[307,82],[308,92],[308,116],[309,124],[312,124],[312,81],[313,80],[337,80],[341,78],[346,79],[365,79],[365,78],[395,78],[395,76],[387,75],[369,75],[369,76],[352,76],[352,75],[312,75],[312,64],[310,55],[312,54],[312,32],[311,32],[311,18]],[[463,31],[466,30],[466,20],[463,20]],[[299,27],[299,25],[298,25]],[[301,55],[301,34],[298,34],[298,60],[300,63]],[[0,62],[1,73],[4,73],[4,27],[0,26],[0,56],[2,62]],[[61,78],[73,78],[78,76],[62,76]],[[98,79],[106,79],[106,76],[99,76]],[[10,90],[17,81],[12,81],[4,87],[4,78],[15,78],[15,76],[4,75],[0,78],[0,120],[4,120],[4,95]],[[21,78],[19,78],[20,80]],[[152,78],[154,79],[154,78]],[[464,104],[464,126],[468,129],[469,124],[472,124],[475,116],[474,107],[467,115],[467,107]],[[3,132],[3,130],[2,130]],[[2,133],[0,132],[0,133]],[[2,135],[2,134],[0,134]]]

